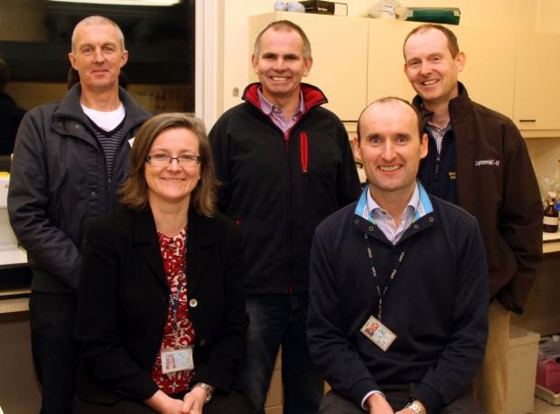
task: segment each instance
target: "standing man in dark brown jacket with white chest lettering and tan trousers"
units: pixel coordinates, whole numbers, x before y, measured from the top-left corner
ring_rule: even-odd
[[[454,33],[423,24],[405,40],[405,73],[429,136],[418,179],[476,217],[486,250],[489,336],[474,394],[503,414],[510,313],[521,314],[542,254],[543,206],[527,146],[511,119],[473,102],[458,81],[465,55]]]

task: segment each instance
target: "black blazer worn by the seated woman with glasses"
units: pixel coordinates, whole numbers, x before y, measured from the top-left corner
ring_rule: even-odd
[[[217,213],[189,212],[187,300],[196,343],[193,382],[229,390],[245,356],[247,314],[241,236]],[[87,231],[76,336],[82,342],[77,390],[83,400],[146,400],[159,352],[170,289],[154,216],[118,207]]]

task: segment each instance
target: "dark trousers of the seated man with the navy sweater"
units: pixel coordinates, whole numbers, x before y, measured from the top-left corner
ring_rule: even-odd
[[[396,385],[382,387],[387,402],[397,412],[404,409],[408,404],[411,391],[415,390],[415,384]],[[354,401],[346,400],[333,390],[330,390],[321,401],[319,414],[363,414],[365,411]],[[476,405],[472,397],[472,390],[468,390],[462,396],[453,400],[449,405],[440,409],[437,413],[429,414],[483,414],[480,407]]]

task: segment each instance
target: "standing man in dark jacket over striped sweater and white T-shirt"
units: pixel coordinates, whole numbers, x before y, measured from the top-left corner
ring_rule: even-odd
[[[71,412],[85,228],[116,206],[132,138],[149,117],[118,87],[128,52],[117,24],[102,16],[79,22],[69,59],[79,84],[23,118],[8,192],[10,221],[33,269],[29,306],[42,414]]]

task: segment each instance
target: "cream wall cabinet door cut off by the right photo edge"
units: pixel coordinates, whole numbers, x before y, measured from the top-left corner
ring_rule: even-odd
[[[514,120],[524,136],[558,136],[560,34],[518,33],[516,40]]]

